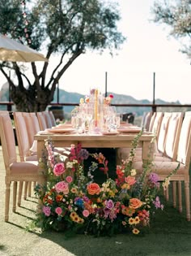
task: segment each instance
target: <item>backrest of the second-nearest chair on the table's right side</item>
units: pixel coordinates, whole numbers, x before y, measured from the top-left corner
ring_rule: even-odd
[[[175,161],[177,157],[177,147],[184,115],[184,112],[172,112],[172,116],[169,119],[164,154],[172,158],[172,161]]]

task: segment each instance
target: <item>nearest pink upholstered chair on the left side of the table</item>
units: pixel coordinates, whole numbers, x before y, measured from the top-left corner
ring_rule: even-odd
[[[6,205],[5,221],[9,220],[10,192],[13,182],[13,211],[16,210],[17,183],[37,181],[45,183],[45,175],[39,173],[38,163],[34,161],[18,162],[15,150],[15,136],[11,118],[8,111],[0,111],[0,136],[2,142],[2,154],[6,168]],[[20,191],[19,191],[20,193]],[[19,195],[21,197],[21,195]]]

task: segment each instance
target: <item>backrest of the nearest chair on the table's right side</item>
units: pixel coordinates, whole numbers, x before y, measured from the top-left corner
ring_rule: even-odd
[[[177,150],[177,161],[189,165],[191,156],[191,111],[185,112],[180,130],[180,139]]]

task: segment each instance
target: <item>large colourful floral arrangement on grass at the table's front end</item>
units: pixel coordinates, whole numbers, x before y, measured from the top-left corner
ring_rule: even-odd
[[[159,200],[158,176],[151,172],[151,161],[141,174],[132,168],[138,139],[134,138],[129,158],[116,167],[116,179],[109,178],[108,160],[103,154],[90,154],[81,145],[71,145],[68,158],[53,153],[53,141],[45,141],[47,154],[40,160],[48,173],[45,190],[36,187],[42,209],[36,226],[95,236],[119,232],[138,234],[149,227]],[[91,158],[88,170],[84,161]],[[105,180],[95,182],[95,171],[104,171]],[[163,183],[168,186],[169,177]],[[42,192],[44,191],[44,193]]]

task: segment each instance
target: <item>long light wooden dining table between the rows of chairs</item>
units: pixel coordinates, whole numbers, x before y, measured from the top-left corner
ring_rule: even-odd
[[[79,133],[41,133],[35,135],[37,141],[37,157],[42,156],[45,150],[45,140],[49,137],[53,141],[55,147],[70,147],[71,144],[80,143],[83,148],[131,148],[132,141],[136,133],[117,133],[116,135],[103,134],[79,134]],[[154,134],[151,132],[143,132],[139,138],[138,147],[142,148],[142,161],[148,159],[151,140]]]

